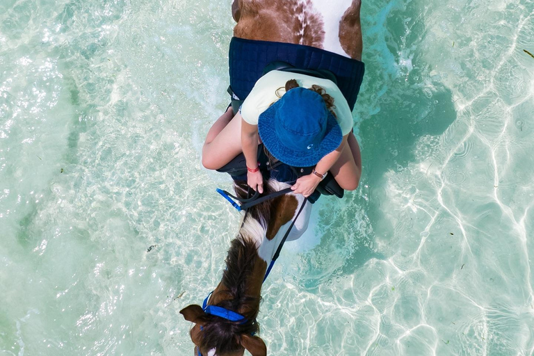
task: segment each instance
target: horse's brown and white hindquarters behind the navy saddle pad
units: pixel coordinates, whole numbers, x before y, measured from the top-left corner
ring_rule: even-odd
[[[238,4],[238,5],[236,5]],[[305,44],[361,59],[360,0],[234,0],[234,35],[248,40]]]

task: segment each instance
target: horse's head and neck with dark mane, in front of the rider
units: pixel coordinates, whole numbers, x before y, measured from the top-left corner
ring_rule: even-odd
[[[264,186],[264,194],[269,194],[288,185],[270,181]],[[236,184],[235,191],[239,197],[248,195],[244,183]],[[195,356],[241,356],[244,350],[252,356],[267,354],[264,341],[256,336],[261,284],[280,243],[278,230],[295,216],[299,202],[294,195],[283,195],[247,210],[228,250],[220,284],[202,307],[189,305],[180,311],[195,323],[191,329]]]

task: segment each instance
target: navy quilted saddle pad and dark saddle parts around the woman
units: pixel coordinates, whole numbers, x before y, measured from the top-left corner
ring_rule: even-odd
[[[254,83],[272,70],[282,70],[328,79],[339,87],[346,97],[350,109],[354,108],[359,87],[364,76],[364,63],[338,54],[300,44],[266,42],[232,38],[229,49],[230,86],[234,115],[247,97]],[[235,89],[235,91],[234,91]],[[276,179],[289,184],[302,175],[309,175],[314,167],[291,167],[280,161],[269,161],[263,145],[258,147],[258,162],[264,179]],[[239,154],[218,172],[226,172],[234,181],[247,179],[245,156]],[[310,195],[315,202],[323,195],[343,197],[344,191],[333,175],[327,175]]]

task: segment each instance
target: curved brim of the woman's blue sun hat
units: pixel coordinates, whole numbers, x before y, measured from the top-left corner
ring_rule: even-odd
[[[341,145],[341,140],[343,140],[341,127],[334,115],[328,111],[325,137],[321,140],[319,147],[314,147],[314,149],[309,149],[305,152],[286,147],[275,132],[274,118],[277,104],[279,103],[280,101],[275,102],[275,104],[267,108],[266,111],[259,115],[258,119],[259,137],[275,159],[293,167],[310,167],[316,165],[324,156]]]

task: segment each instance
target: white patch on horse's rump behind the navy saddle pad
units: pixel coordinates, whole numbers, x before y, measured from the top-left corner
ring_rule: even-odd
[[[323,30],[325,31],[325,40],[323,42],[323,49],[326,51],[341,54],[341,56],[350,56],[341,47],[339,40],[339,22],[341,17],[346,12],[353,0],[300,0],[302,3],[311,2],[314,8],[314,13],[321,15],[323,19]],[[300,19],[300,17],[299,17]]]

